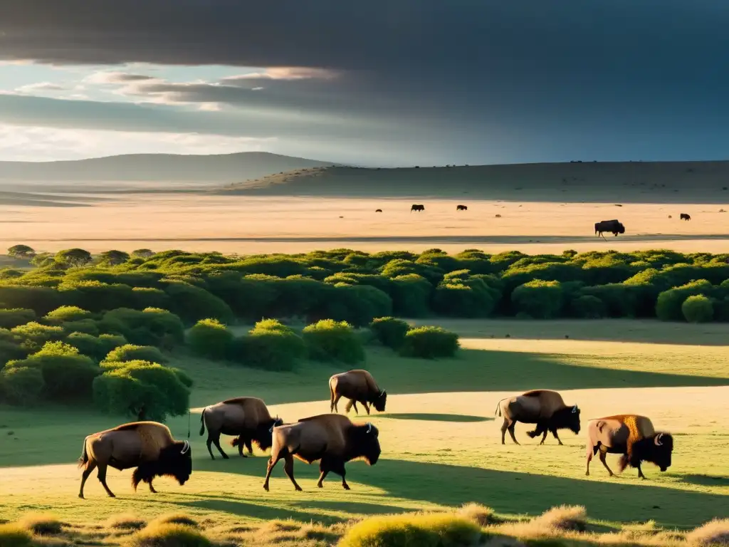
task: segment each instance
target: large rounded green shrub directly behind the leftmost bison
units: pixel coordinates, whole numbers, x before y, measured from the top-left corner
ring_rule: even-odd
[[[93,400],[108,414],[129,414],[144,405],[149,419],[187,414],[190,389],[171,368],[147,361],[130,361],[93,381]]]

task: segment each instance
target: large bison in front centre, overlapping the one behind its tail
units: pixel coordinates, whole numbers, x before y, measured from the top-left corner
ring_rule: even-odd
[[[295,489],[301,490],[294,478],[294,457],[311,464],[319,462],[319,482],[322,488],[324,478],[331,471],[342,478],[342,486],[349,489],[344,464],[352,459],[363,458],[368,465],[375,465],[380,457],[380,441],[377,427],[370,422],[354,424],[346,416],[320,414],[300,419],[295,424],[273,428],[273,446],[266,469],[263,488],[268,492],[268,479],[279,459],[284,459],[284,472]]]

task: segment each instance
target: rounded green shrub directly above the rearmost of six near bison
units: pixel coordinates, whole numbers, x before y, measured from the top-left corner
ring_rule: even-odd
[[[304,328],[303,339],[314,360],[348,364],[364,360],[362,341],[345,321],[322,319]]]

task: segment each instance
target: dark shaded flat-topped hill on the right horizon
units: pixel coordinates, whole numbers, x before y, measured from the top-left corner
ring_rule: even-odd
[[[729,161],[570,162],[421,168],[327,167],[216,193],[351,198],[729,204]],[[416,201],[417,203],[417,201]]]

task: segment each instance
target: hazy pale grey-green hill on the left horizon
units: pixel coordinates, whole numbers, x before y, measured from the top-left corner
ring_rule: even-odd
[[[281,171],[331,166],[332,163],[268,152],[219,155],[128,154],[87,160],[0,161],[0,184],[34,182],[113,183],[180,182],[222,184],[257,179]]]

